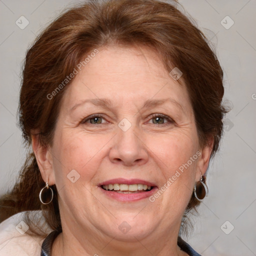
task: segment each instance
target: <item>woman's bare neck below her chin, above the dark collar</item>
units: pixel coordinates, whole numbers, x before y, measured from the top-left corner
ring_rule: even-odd
[[[171,233],[171,232],[169,232]],[[173,233],[172,233],[173,234]],[[184,256],[187,255],[177,246],[177,235],[148,236],[144,239],[134,237],[133,241],[120,241],[115,237],[105,237],[92,233],[73,234],[63,230],[53,242],[52,256]]]

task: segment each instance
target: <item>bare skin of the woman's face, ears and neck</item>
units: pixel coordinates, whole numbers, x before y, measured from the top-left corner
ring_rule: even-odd
[[[98,50],[64,93],[52,147],[32,137],[42,178],[59,193],[63,232],[52,255],[186,255],[176,243],[180,221],[211,146],[200,148],[186,88],[156,53],[135,46]],[[81,103],[102,98],[110,104]],[[163,99],[171,100],[157,104]],[[144,106],[147,100],[154,104]],[[100,124],[85,118],[99,113]],[[170,120],[155,124],[152,114]],[[117,125],[123,118],[131,123],[127,131]],[[201,155],[154,202],[117,201],[97,185],[139,178],[160,188],[198,150]],[[72,169],[80,175],[74,183],[67,178]],[[118,228],[123,221],[131,227],[127,233]]]

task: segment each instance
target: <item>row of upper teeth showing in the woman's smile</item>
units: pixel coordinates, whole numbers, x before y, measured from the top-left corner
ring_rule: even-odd
[[[143,184],[108,184],[102,185],[102,188],[105,190],[115,190],[118,193],[132,193],[135,191],[142,191],[142,190],[150,190],[151,186],[143,185]]]

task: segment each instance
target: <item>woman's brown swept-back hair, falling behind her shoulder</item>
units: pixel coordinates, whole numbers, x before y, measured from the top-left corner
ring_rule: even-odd
[[[155,50],[166,70],[182,71],[192,103],[201,145],[214,137],[212,155],[222,135],[222,69],[199,29],[176,7],[157,0],[91,1],[70,8],[55,19],[26,52],[20,89],[19,120],[27,147],[31,132],[51,145],[61,97],[68,86],[51,93],[93,49],[105,45],[144,45]],[[42,209],[48,225],[61,230],[55,185],[53,201],[42,205],[45,185],[33,152],[29,151],[13,189],[0,199],[0,220],[25,210]],[[185,214],[199,202],[191,195]],[[39,234],[39,233],[38,233]]]

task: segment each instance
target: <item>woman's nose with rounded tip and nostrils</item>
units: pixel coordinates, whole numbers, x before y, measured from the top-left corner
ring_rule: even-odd
[[[109,150],[109,159],[125,166],[141,165],[148,161],[148,152],[138,132],[132,128],[119,129]]]

